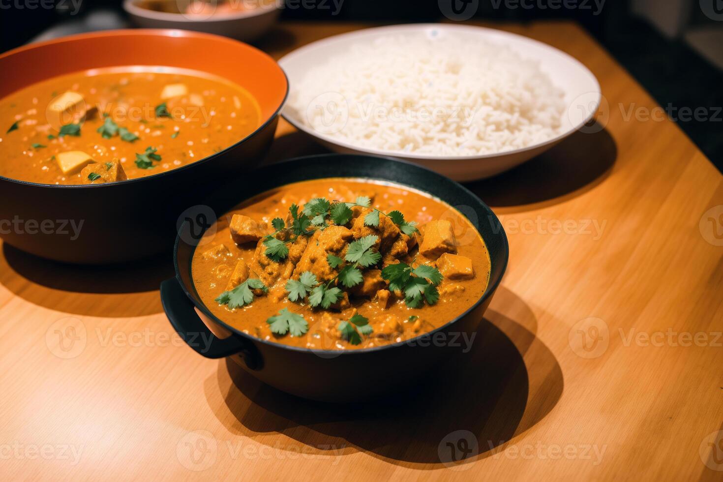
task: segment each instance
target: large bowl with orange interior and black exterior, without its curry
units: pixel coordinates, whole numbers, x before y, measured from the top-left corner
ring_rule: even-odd
[[[150,257],[170,248],[181,212],[262,160],[288,94],[286,74],[257,48],[218,35],[111,30],[34,43],[0,55],[0,70],[8,73],[0,98],[58,75],[124,65],[197,69],[243,85],[260,104],[262,125],[208,158],[146,178],[56,186],[0,176],[0,236],[7,244],[61,262]]]

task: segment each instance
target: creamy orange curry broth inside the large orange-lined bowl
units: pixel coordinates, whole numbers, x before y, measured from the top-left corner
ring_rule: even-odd
[[[183,85],[186,92],[161,98],[168,85]],[[82,96],[82,105],[65,102],[61,96],[66,92]],[[55,116],[56,102],[65,102],[68,111]],[[162,103],[171,117],[156,114]],[[98,128],[106,116],[139,139],[127,142],[119,134],[104,138]],[[118,160],[128,178],[151,176],[194,163],[247,137],[260,126],[260,108],[246,90],[219,77],[127,66],[54,77],[14,92],[0,100],[0,122],[1,176],[40,184],[92,184],[80,170],[61,171],[58,156],[85,152],[99,164]],[[60,137],[64,124],[80,124],[80,136]],[[143,155],[147,147],[161,160],[140,168],[136,155]]]

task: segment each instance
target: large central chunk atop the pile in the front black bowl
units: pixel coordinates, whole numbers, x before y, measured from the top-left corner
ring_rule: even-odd
[[[329,226],[323,231],[316,231],[296,264],[294,277],[299,277],[306,271],[312,272],[319,281],[328,281],[335,277],[338,270],[330,267],[327,257],[329,254],[343,257],[347,241],[351,238],[351,231],[343,226]]]

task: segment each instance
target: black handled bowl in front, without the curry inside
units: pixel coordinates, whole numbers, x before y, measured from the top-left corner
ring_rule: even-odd
[[[244,181],[220,189],[209,206],[215,212],[225,213],[244,199],[269,189],[328,177],[393,181],[426,191],[454,207],[463,206],[461,212],[476,225],[489,250],[492,267],[487,290],[479,293],[479,300],[467,311],[442,327],[393,345],[361,350],[311,350],[268,342],[226,324],[201,301],[191,276],[197,241],[188,233],[197,233],[198,239],[205,226],[193,225],[193,218],[189,218],[181,227],[183,235],[176,237],[176,277],[161,283],[161,301],[176,331],[202,356],[232,356],[257,379],[299,397],[330,402],[359,401],[404,389],[429,376],[442,361],[462,353],[463,335],[469,340],[476,332],[500,285],[509,247],[497,216],[471,191],[434,171],[390,158],[331,154],[268,165],[249,174]],[[222,339],[213,335],[197,316],[194,306],[222,327],[221,331],[231,332],[231,336]],[[352,373],[363,373],[361,382],[356,376],[349,376]]]

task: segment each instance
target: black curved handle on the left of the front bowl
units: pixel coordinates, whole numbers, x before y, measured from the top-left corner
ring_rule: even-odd
[[[161,283],[161,304],[168,321],[196,353],[206,358],[240,355],[249,369],[261,368],[261,357],[249,341],[236,335],[221,339],[208,329],[194,311],[194,304],[181,289],[176,278]]]

